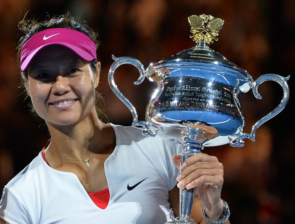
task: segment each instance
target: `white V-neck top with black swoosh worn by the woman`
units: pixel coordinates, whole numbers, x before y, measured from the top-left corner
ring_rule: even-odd
[[[0,218],[10,224],[164,224],[174,218],[168,191],[179,170],[179,144],[113,125],[116,147],[105,162],[110,191],[97,207],[77,176],[50,168],[42,153],[4,187]]]

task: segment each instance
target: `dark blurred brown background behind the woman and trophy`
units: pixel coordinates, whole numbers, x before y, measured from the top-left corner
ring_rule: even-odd
[[[295,133],[293,112],[295,58],[294,0],[0,0],[0,187],[24,168],[46,145],[49,134],[30,114],[21,97],[16,61],[18,21],[28,15],[45,17],[70,11],[100,34],[102,63],[100,91],[109,121],[130,125],[129,109],[112,93],[107,73],[111,55],[131,56],[145,67],[152,61],[194,47],[189,38],[189,15],[211,14],[224,20],[219,41],[210,47],[247,70],[255,80],[262,74],[291,75],[286,109],[263,124],[256,141],[245,146],[205,148],[224,165],[222,198],[228,202],[233,224],[289,224],[295,212]],[[144,120],[155,88],[145,80],[135,86],[138,70],[117,69],[115,81]],[[275,82],[259,88],[262,100],[249,91],[241,97],[246,112],[245,132],[272,111],[283,93]]]

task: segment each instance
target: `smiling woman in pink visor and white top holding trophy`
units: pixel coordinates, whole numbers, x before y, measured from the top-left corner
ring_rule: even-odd
[[[196,187],[196,222],[229,223],[215,157],[195,155],[179,174],[178,144],[99,119],[95,32],[68,14],[19,27],[23,83],[51,140],[4,187],[2,224],[164,224],[179,215],[178,187]]]

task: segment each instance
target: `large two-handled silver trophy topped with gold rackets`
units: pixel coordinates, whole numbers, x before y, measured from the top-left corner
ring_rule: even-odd
[[[195,47],[155,61],[147,69],[135,58],[113,56],[115,61],[109,70],[112,90],[133,114],[132,126],[143,127],[145,135],[158,134],[181,143],[181,164],[202,152],[204,146],[229,143],[241,147],[244,138],[255,141],[257,128],[281,112],[289,100],[289,76],[265,74],[253,81],[247,71],[209,48],[210,43],[218,40],[222,19],[192,15],[188,21]],[[139,69],[140,77],[134,84],[141,84],[147,77],[157,86],[147,106],[146,121],[138,120],[136,109],[114,82],[114,72],[122,64],[132,64]],[[282,86],[283,99],[276,109],[253,125],[250,134],[243,133],[245,118],[239,95],[252,89],[254,96],[261,99],[258,87],[268,80]],[[194,189],[180,189],[180,217],[169,223],[195,224],[190,218],[193,198]]]

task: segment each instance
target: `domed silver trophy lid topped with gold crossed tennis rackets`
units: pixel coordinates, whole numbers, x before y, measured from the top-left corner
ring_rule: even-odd
[[[224,21],[220,18],[215,18],[212,15],[191,15],[188,17],[191,26],[192,35],[190,38],[196,42],[196,46],[179,52],[175,56],[166,57],[155,61],[149,65],[150,67],[166,67],[166,66],[201,66],[211,67],[221,70],[230,70],[235,75],[241,76],[243,79],[249,79],[249,73],[238,67],[233,62],[227,60],[220,53],[209,48],[210,43],[218,41],[219,30],[223,27]],[[205,26],[205,23],[207,25]]]

